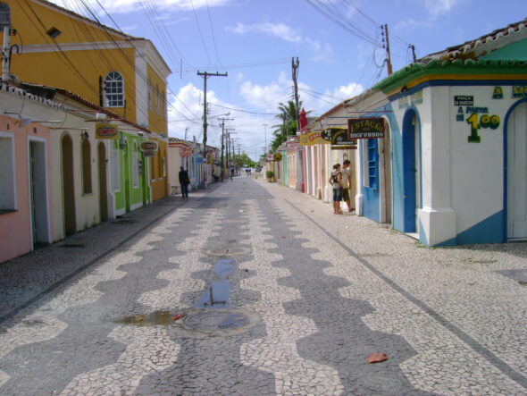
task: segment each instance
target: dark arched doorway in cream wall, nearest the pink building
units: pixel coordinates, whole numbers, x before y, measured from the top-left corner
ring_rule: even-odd
[[[70,235],[77,232],[77,219],[75,216],[75,189],[73,182],[73,142],[68,135],[63,136],[62,152],[64,232],[66,235]]]

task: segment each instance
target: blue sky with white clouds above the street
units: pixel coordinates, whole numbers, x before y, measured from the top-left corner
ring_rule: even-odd
[[[292,59],[306,112],[320,115],[393,71],[527,17],[526,0],[52,0],[113,29],[151,40],[171,69],[169,136],[220,147],[222,118],[235,147],[257,159],[278,106],[293,99]],[[229,113],[229,115],[225,115]]]

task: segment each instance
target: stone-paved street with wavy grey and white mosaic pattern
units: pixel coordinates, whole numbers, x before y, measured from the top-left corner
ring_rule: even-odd
[[[526,258],[242,175],[0,265],[0,394],[525,395]]]

